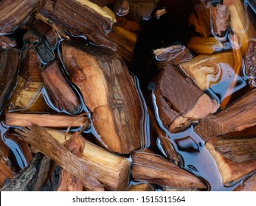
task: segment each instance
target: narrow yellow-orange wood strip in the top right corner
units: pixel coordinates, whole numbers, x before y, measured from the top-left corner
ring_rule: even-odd
[[[233,32],[238,35],[241,42],[241,51],[244,54],[247,49],[248,40],[256,37],[255,29],[246,17],[243,1],[224,0],[224,4],[229,9],[231,17],[230,26]]]

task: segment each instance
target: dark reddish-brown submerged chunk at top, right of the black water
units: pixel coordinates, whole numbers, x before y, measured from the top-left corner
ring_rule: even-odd
[[[211,25],[210,25],[210,10],[207,6],[199,2],[194,6],[196,14],[192,13],[190,15],[190,24],[193,24],[196,27],[196,32],[204,36],[204,38],[212,35]]]

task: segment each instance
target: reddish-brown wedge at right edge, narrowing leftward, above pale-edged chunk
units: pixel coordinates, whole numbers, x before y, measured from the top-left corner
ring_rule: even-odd
[[[256,125],[256,90],[243,96],[220,113],[204,118],[197,127],[196,133],[209,140],[213,136],[225,135],[230,132],[240,132]]]

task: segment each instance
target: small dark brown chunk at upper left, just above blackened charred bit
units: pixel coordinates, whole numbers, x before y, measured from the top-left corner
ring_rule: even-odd
[[[32,26],[35,26],[35,29],[40,33],[42,37],[46,39],[46,41],[49,43],[49,46],[56,46],[56,43],[58,43],[58,35],[52,29],[52,27],[49,26],[49,24],[46,24],[44,21],[39,19],[35,19],[35,21],[32,23]]]

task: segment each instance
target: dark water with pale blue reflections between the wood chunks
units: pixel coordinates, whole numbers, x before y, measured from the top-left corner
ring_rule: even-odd
[[[173,2],[161,0],[159,1],[156,10],[162,9],[163,7],[165,7],[167,10],[165,15],[162,15],[160,18],[151,17],[142,21],[142,30],[139,32],[138,43],[136,44],[134,66],[129,68],[132,73],[131,75],[134,77],[134,85],[136,86],[136,91],[140,97],[139,104],[142,108],[140,132],[143,146],[139,151],[150,148],[154,152],[162,154],[162,156],[165,155],[161,144],[159,141],[157,141],[157,137],[153,136],[153,133],[151,132],[147,110],[147,107],[151,107],[151,109],[153,109],[155,112],[159,126],[170,137],[170,143],[173,143],[176,152],[178,152],[179,156],[181,157],[180,167],[190,171],[204,180],[208,186],[207,190],[209,191],[232,191],[238,184],[241,184],[243,180],[241,180],[241,182],[233,182],[231,185],[229,185],[229,187],[224,186],[221,182],[221,175],[218,172],[218,167],[216,166],[215,160],[210,152],[208,152],[204,147],[204,141],[202,141],[196,132],[193,131],[193,126],[184,132],[175,134],[167,131],[160,121],[154,93],[153,91],[151,92],[148,90],[149,82],[151,82],[152,79],[159,73],[159,70],[156,68],[157,61],[153,59],[153,50],[159,49],[163,46],[170,46],[170,44],[176,42],[186,45],[188,40],[190,40],[192,36],[196,35],[193,26],[190,26],[187,21],[190,13],[193,12],[193,5],[190,3],[190,1],[182,0]],[[250,9],[247,10],[249,10],[248,13],[252,15],[252,11]],[[20,49],[24,44],[21,38],[24,33],[24,29],[20,29],[18,32],[11,35],[12,37],[18,38],[18,48]],[[76,40],[79,39],[80,42],[84,44],[89,43],[86,41],[86,37],[73,38]],[[54,55],[59,60],[60,65],[62,65],[63,73],[66,75],[69,85],[73,90],[75,90],[75,93],[77,93],[77,96],[83,104],[82,109],[77,113],[77,115],[87,113],[89,110],[83,102],[83,97],[75,85],[72,85],[72,83],[69,81],[68,73],[60,56],[60,43],[61,40],[59,41],[57,49],[55,49]],[[230,45],[227,45],[225,49],[228,49],[228,47],[231,49]],[[46,60],[43,60],[42,65],[45,63]],[[246,77],[244,77],[243,74],[235,74],[232,68],[224,63],[221,64],[221,67],[222,68],[217,74],[218,78],[220,79],[218,80],[218,84],[212,83],[211,87],[208,88],[206,92],[210,93],[210,96],[217,99],[220,103],[223,102],[227,97],[231,96],[231,99],[229,100],[230,104],[248,91],[248,85],[246,83]],[[235,88],[230,87],[230,82],[235,77],[238,79],[238,82],[235,85]],[[210,79],[210,81],[214,82],[215,79]],[[45,110],[45,112],[68,114],[65,111],[58,110],[55,105],[52,104],[52,100],[45,89],[41,91],[41,95],[44,96],[44,101],[46,102],[47,107],[49,107],[49,110]],[[88,116],[91,118],[91,114]],[[23,143],[15,138],[15,136],[8,136],[8,134],[13,130],[12,128],[6,127],[3,120],[4,113],[0,116],[0,133],[1,139],[10,148],[10,156],[6,158],[10,161],[10,166],[13,167],[15,172],[18,172],[30,162],[30,154],[25,152],[27,150],[26,146],[23,146]],[[74,132],[80,129],[82,128],[72,128],[70,131]],[[66,128],[60,129],[60,131],[65,132]],[[103,143],[100,135],[98,135],[94,129],[92,121],[90,127],[83,131],[83,135],[86,138],[89,138],[93,143],[100,144],[100,146],[108,149],[108,146]],[[133,182],[131,180],[130,185],[132,184],[138,184],[138,182]],[[158,185],[155,185],[155,188],[156,190],[162,190],[162,188]]]

